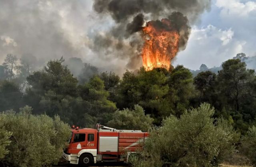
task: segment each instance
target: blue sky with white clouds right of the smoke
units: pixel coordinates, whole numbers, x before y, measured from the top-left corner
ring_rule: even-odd
[[[256,1],[214,0],[211,11],[192,26],[184,51],[174,65],[199,69],[201,64],[218,67],[237,53],[256,56]]]

